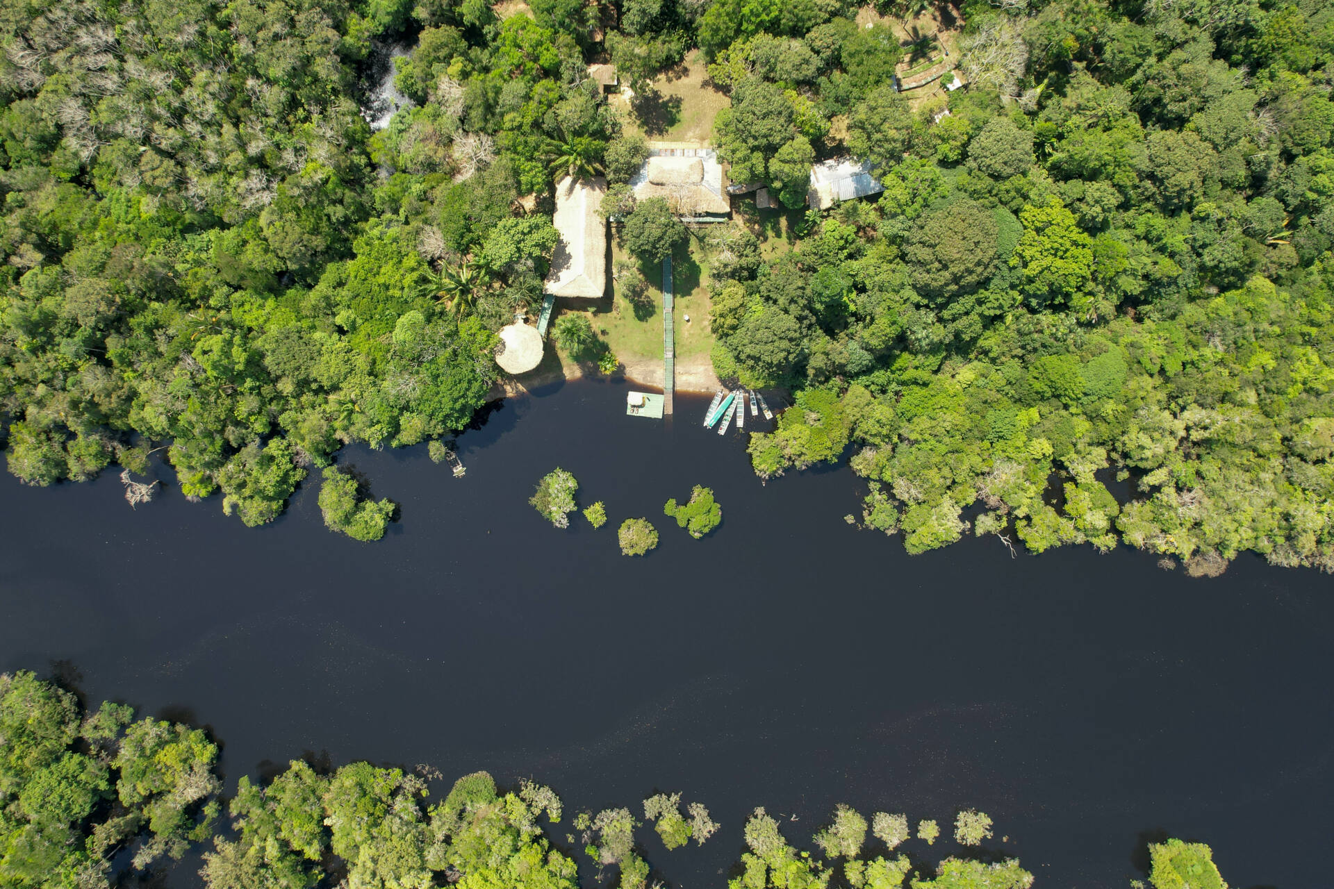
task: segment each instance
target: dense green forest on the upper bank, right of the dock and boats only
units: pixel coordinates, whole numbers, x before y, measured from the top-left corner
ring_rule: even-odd
[[[851,446],[860,521],[910,552],[980,508],[976,533],[1033,552],[1125,541],[1193,573],[1241,550],[1334,570],[1334,8],[963,16],[968,85],[939,120],[943,97],[912,108],[846,19],[700,29],[731,83],[734,179],[799,205],[787,184],[844,116],[884,184],[772,261],[727,235],[715,365],[798,391],[751,437],[756,472]]]

